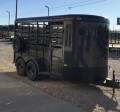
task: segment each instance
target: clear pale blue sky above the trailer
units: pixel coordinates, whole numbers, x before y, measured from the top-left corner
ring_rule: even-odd
[[[0,0],[0,24],[14,24],[16,0]],[[89,14],[108,17],[111,29],[120,29],[117,17],[120,17],[120,0],[18,0],[18,18],[64,14]]]

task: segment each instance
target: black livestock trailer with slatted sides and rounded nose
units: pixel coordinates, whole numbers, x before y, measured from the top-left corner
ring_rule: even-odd
[[[17,73],[84,82],[108,76],[109,20],[94,15],[59,15],[15,20],[13,40]]]

